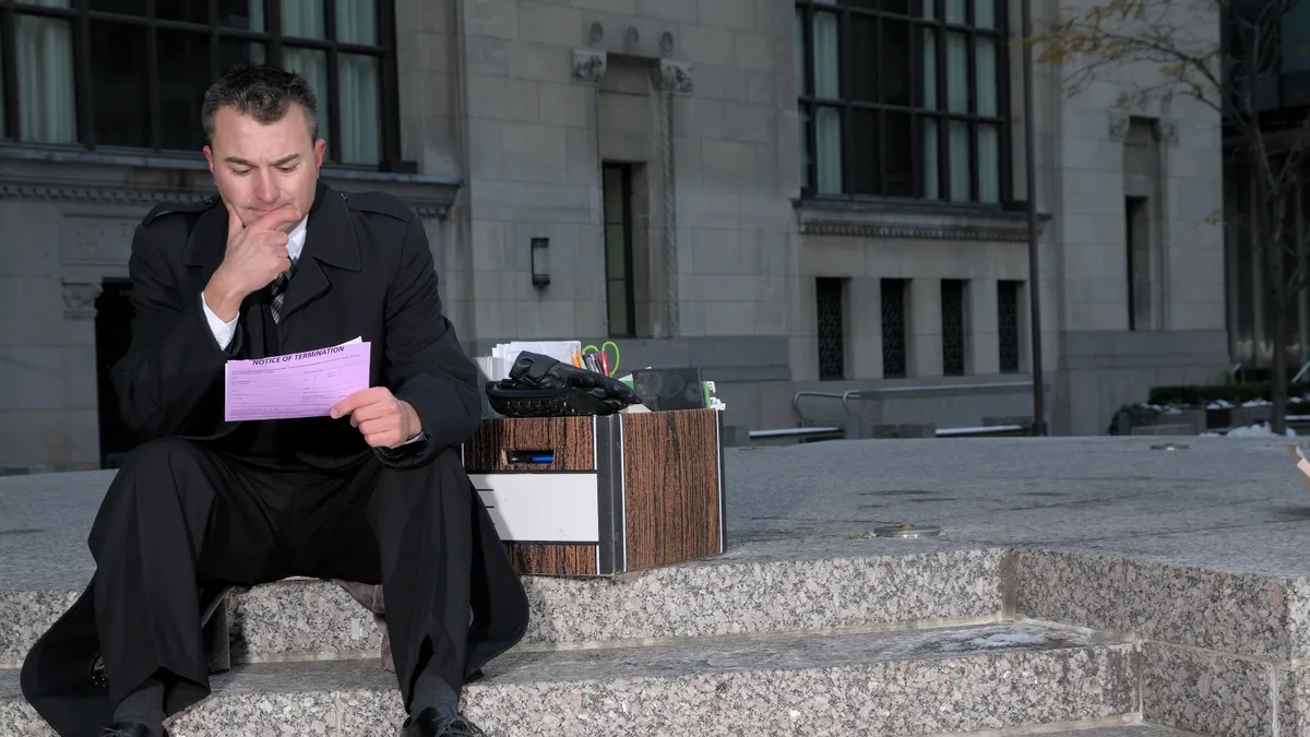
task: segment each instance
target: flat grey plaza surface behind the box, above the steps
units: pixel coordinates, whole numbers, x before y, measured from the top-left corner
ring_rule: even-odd
[[[1276,438],[833,441],[724,448],[724,468],[730,547],[768,557],[1024,544],[1310,576],[1310,485]],[[0,477],[0,590],[84,585],[111,479]],[[852,539],[903,522],[942,538]]]

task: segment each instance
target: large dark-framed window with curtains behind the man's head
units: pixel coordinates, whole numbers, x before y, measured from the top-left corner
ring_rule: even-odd
[[[398,149],[393,13],[377,0],[0,0],[0,134],[194,152],[204,88],[270,62],[313,85],[330,161],[376,167]]]

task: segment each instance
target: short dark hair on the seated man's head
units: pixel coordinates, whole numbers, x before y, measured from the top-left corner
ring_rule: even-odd
[[[267,64],[233,67],[204,90],[204,104],[200,105],[204,140],[214,143],[214,117],[228,105],[266,126],[286,117],[292,102],[304,108],[309,136],[317,140],[318,100],[305,77]]]

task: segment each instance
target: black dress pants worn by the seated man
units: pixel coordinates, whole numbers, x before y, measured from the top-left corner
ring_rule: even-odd
[[[372,454],[347,468],[316,469],[186,439],[140,446],[89,538],[109,702],[152,677],[166,686],[166,713],[207,696],[198,586],[288,576],[381,584],[406,708],[428,657],[458,692],[473,493],[453,451],[411,469]]]

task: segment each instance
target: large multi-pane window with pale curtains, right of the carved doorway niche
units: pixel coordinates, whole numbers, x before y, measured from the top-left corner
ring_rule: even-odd
[[[1003,5],[798,0],[806,195],[1001,202]]]

